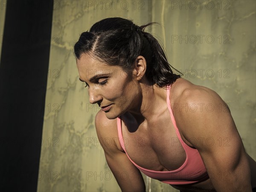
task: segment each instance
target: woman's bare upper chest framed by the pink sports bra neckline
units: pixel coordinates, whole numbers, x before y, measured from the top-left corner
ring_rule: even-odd
[[[128,156],[145,169],[172,171],[186,160],[186,152],[177,137],[169,111],[154,122],[141,125],[137,125],[135,119],[122,121],[122,136]]]

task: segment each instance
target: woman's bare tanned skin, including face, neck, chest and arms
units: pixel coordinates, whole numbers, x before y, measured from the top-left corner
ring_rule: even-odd
[[[139,56],[134,63],[132,79],[120,67],[99,62],[89,54],[83,54],[77,60],[77,67],[80,79],[88,84],[90,103],[100,107],[112,106],[109,111],[99,111],[95,122],[99,140],[107,137],[113,139],[114,145],[102,143],[111,171],[125,170],[129,175],[140,178],[122,180],[115,175],[122,191],[144,191],[145,183],[124,153],[119,140],[116,140],[116,118],[119,116],[122,117],[123,137],[128,143],[133,143],[125,146],[125,149],[137,165],[155,171],[172,171],[184,163],[186,153],[180,142],[170,140],[177,136],[166,104],[166,89],[149,84],[145,78],[146,61],[143,56]],[[103,76],[90,80],[97,74]],[[245,153],[230,112],[214,110],[209,113],[205,108],[192,112],[177,108],[199,103],[211,103],[215,108],[225,106],[217,93],[180,78],[172,84],[169,99],[177,104],[173,105],[172,110],[182,140],[198,149],[207,172],[211,173],[210,178],[203,182],[172,186],[188,192],[251,191],[251,186],[256,187],[253,174],[255,161]],[[198,105],[199,108],[201,106]],[[191,140],[209,137],[215,141],[215,145],[207,145],[201,142],[202,139],[197,142]],[[217,142],[220,138],[224,142],[226,137],[229,138],[229,146],[220,146]],[[141,141],[143,145],[138,144]]]

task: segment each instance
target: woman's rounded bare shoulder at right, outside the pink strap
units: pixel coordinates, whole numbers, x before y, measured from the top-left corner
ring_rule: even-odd
[[[177,79],[170,90],[170,101],[176,125],[186,140],[205,132],[221,131],[224,127],[227,129],[227,126],[217,125],[216,122],[222,125],[229,122],[233,125],[227,104],[214,90],[207,87]],[[230,129],[236,131],[235,126]]]

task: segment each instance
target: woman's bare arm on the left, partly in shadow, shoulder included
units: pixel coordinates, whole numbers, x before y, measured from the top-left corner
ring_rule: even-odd
[[[109,168],[111,169],[122,192],[145,192],[145,183],[140,171],[128,159],[125,152],[117,147],[118,133],[116,119],[108,119],[99,111],[95,118],[96,132]],[[102,142],[111,139],[111,144]]]

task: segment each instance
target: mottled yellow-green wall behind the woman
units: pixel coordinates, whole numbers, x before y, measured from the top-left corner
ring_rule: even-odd
[[[101,2],[102,7],[96,6]],[[99,108],[91,108],[73,55],[79,35],[106,17],[161,23],[148,31],[163,43],[169,63],[183,78],[215,90],[229,104],[255,160],[255,1],[121,0],[111,7],[108,2],[54,1],[38,192],[120,191],[96,136]],[[148,177],[145,183],[147,191],[177,191]]]

